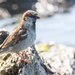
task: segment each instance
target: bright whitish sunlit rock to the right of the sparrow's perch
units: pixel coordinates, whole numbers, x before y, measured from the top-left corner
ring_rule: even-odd
[[[44,46],[43,44],[41,45]],[[46,46],[48,46],[48,50],[46,50],[44,46],[43,52],[40,51],[40,56],[43,57],[46,67],[48,67],[54,75],[72,75],[75,48],[52,42],[47,43]],[[40,46],[38,45],[38,47]]]

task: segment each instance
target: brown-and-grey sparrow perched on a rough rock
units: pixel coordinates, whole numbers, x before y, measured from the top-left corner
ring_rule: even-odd
[[[31,46],[36,39],[37,19],[39,19],[37,12],[33,10],[26,11],[22,16],[21,23],[13,29],[12,33],[0,45],[0,53],[9,51],[18,53]]]

